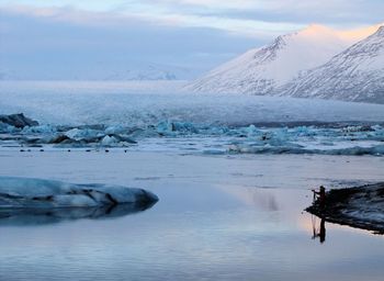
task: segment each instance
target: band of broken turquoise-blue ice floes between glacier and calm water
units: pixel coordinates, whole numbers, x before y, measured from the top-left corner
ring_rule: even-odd
[[[206,154],[384,155],[383,123],[294,122],[229,126],[163,120],[143,126],[42,124],[21,130],[0,122],[0,146],[131,147],[150,138],[161,143],[161,139],[191,137],[204,143],[204,148],[197,151]]]

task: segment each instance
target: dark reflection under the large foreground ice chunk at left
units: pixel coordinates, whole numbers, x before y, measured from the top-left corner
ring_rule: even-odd
[[[150,209],[156,202],[147,204],[127,203],[100,207],[61,209],[0,209],[0,226],[45,225],[80,218],[101,220],[121,217]]]

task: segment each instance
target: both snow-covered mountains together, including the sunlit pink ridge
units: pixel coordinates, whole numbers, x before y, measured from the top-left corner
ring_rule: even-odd
[[[185,89],[384,103],[384,26],[340,32],[310,25],[248,50]]]

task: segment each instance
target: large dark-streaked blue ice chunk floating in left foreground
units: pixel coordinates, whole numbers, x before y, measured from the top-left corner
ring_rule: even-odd
[[[121,203],[146,204],[157,200],[146,190],[121,186],[0,177],[0,209],[93,207]]]

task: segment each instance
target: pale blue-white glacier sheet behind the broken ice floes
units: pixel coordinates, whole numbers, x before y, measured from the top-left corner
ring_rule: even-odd
[[[238,94],[201,95],[173,90],[168,93],[137,93],[135,89],[127,88],[124,92],[117,86],[115,89],[105,83],[89,83],[89,92],[71,82],[67,82],[66,87],[61,82],[35,87],[0,82],[0,112],[23,112],[41,125],[76,126],[142,127],[167,120],[225,125],[384,121],[384,108],[380,104]]]

